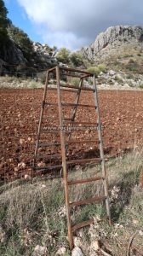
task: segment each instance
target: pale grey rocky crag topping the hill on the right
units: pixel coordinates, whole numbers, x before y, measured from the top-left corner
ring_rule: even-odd
[[[111,26],[106,32],[101,32],[89,47],[83,47],[81,52],[90,61],[97,57],[106,57],[121,50],[120,47],[129,44],[140,44],[143,47],[143,27],[141,26]]]

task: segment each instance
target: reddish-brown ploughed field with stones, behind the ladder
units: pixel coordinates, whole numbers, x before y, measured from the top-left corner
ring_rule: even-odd
[[[75,102],[76,94],[61,92],[62,102]],[[31,173],[36,143],[42,89],[0,89],[0,178],[13,179]],[[47,102],[57,102],[56,90],[49,90]],[[143,143],[143,92],[100,90],[100,118],[106,158],[124,154]],[[80,103],[94,105],[94,94],[82,92]],[[72,116],[72,107],[63,107],[65,118]],[[77,125],[73,126],[72,143],[67,148],[67,159],[99,157],[99,143],[79,143],[96,140],[94,108],[77,108]],[[89,125],[82,125],[87,122]],[[90,125],[92,123],[92,125]],[[66,121],[66,142],[71,125]],[[60,141],[59,113],[56,106],[46,106],[43,114],[40,143]],[[75,141],[75,143],[73,142]],[[54,154],[57,154],[54,155]],[[52,156],[51,156],[52,155]],[[40,147],[37,167],[61,163],[60,147]],[[34,171],[36,172],[36,171]],[[52,171],[49,172],[50,174]]]

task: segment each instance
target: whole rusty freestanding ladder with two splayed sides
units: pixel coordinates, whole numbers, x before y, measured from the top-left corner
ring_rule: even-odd
[[[46,102],[46,96],[47,91],[55,90],[55,88],[49,88],[49,79],[50,74],[54,73],[54,76],[56,77],[56,90],[57,90],[57,103],[55,102]],[[70,77],[77,77],[80,79],[79,85],[75,86],[72,84],[61,84],[60,83],[60,75],[62,76],[70,76]],[[93,85],[92,87],[87,87],[83,85],[83,80],[87,78],[93,79]],[[76,102],[62,102],[61,99],[61,90],[69,91],[69,92],[75,92],[77,94],[76,96]],[[94,93],[94,105],[88,105],[88,104],[80,104],[80,94],[82,90],[88,90],[92,91]],[[60,124],[60,142],[59,143],[39,143],[40,135],[41,135],[41,127],[43,123],[43,112],[44,108],[50,106],[58,105],[59,110],[59,124]],[[63,115],[63,108],[64,107],[71,107],[72,108],[72,117],[71,118],[65,118]],[[97,123],[88,123],[88,122],[77,122],[75,121],[77,108],[94,108],[97,116]],[[66,123],[70,125],[97,125],[98,129],[98,140],[72,140],[72,129],[70,130],[68,134],[68,139],[66,140],[66,133],[64,130],[64,127]],[[100,157],[99,158],[89,158],[89,159],[77,159],[77,160],[67,160],[67,148],[69,144],[72,143],[99,143],[99,149],[100,149]],[[60,146],[61,147],[61,162],[58,165],[51,165],[51,166],[43,166],[43,167],[37,167],[37,151],[39,147],[51,147],[51,146]],[[57,154],[49,156],[49,158],[56,158]],[[90,177],[90,178],[84,178],[80,180],[69,180],[68,179],[68,173],[67,169],[69,166],[76,165],[76,164],[83,164],[83,163],[90,163],[90,162],[99,162],[101,164],[101,174],[98,177]],[[98,91],[96,86],[96,79],[95,75],[93,73],[88,73],[79,69],[73,69],[73,68],[67,68],[67,67],[54,67],[48,70],[47,77],[46,77],[46,83],[44,88],[44,94],[43,94],[43,102],[42,102],[42,108],[41,108],[41,114],[40,114],[40,120],[38,125],[38,131],[37,131],[37,143],[36,143],[36,149],[35,149],[35,155],[34,155],[34,170],[41,170],[41,171],[47,171],[47,170],[53,170],[57,168],[62,168],[63,172],[63,179],[64,179],[64,188],[65,188],[65,203],[66,203],[66,217],[67,217],[67,227],[68,227],[68,240],[70,244],[70,248],[73,247],[73,233],[75,230],[82,228],[84,226],[87,226],[89,224],[93,224],[94,220],[89,219],[88,221],[83,221],[80,224],[76,224],[72,226],[72,220],[71,220],[71,209],[72,207],[77,207],[93,202],[103,202],[105,201],[106,204],[106,217],[109,220],[109,223],[111,224],[111,213],[110,213],[110,204],[109,204],[109,195],[108,195],[108,186],[107,186],[107,178],[106,178],[106,166],[105,166],[105,158],[104,158],[104,151],[103,151],[103,143],[102,143],[102,136],[101,136],[101,122],[100,122],[100,109],[99,109],[99,101],[98,101]],[[104,195],[102,196],[94,196],[93,198],[81,200],[81,201],[69,201],[69,186],[75,185],[75,184],[82,184],[82,183],[90,183],[90,182],[96,182],[101,180],[104,187]]]

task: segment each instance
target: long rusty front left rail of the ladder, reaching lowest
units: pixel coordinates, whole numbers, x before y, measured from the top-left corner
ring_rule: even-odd
[[[69,191],[68,191],[68,180],[67,180],[67,166],[66,166],[66,143],[64,130],[62,129],[63,123],[63,113],[61,107],[61,95],[60,95],[60,68],[56,67],[56,79],[57,79],[57,94],[58,94],[58,105],[59,105],[59,118],[60,118],[60,143],[61,143],[61,155],[62,155],[62,166],[63,166],[63,177],[64,177],[64,187],[65,187],[65,201],[66,201],[66,218],[68,227],[68,240],[70,248],[73,247],[73,236],[72,236],[72,224],[70,215],[70,204],[69,204]]]

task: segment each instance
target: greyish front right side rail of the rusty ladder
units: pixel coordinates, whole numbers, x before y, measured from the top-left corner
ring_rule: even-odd
[[[99,99],[98,99],[98,91],[97,91],[95,75],[93,76],[93,85],[94,85],[95,110],[97,113],[97,123],[99,124],[98,125],[98,136],[99,136],[99,141],[100,141],[100,158],[101,158],[102,175],[104,177],[103,185],[104,185],[104,191],[105,191],[105,195],[106,195],[106,214],[109,218],[109,223],[111,224],[111,212],[110,212],[110,203],[109,203],[109,195],[108,195],[108,183],[107,183],[107,177],[106,177],[106,165],[105,165],[103,141],[102,141],[102,134],[101,134],[100,108],[99,108]]]

